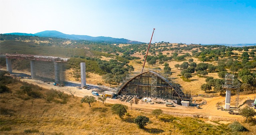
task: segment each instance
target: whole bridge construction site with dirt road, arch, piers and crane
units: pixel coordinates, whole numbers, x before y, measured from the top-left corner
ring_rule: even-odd
[[[69,58],[24,54],[1,54],[1,57],[6,59],[6,70],[11,75],[14,74],[11,59],[30,61],[31,72],[28,74],[31,79],[21,78],[23,81],[47,89],[62,90],[66,93],[75,92],[78,97],[106,96],[109,97],[106,100],[108,103],[126,105],[134,103],[135,108],[145,111],[161,108],[166,114],[178,116],[236,120],[241,118],[239,115],[241,106],[249,105],[256,108],[256,94],[239,97],[240,84],[234,83],[234,74],[230,73],[225,74],[225,83],[222,85],[222,88],[226,90],[225,97],[191,95],[189,91],[184,92],[182,86],[170,77],[170,72],[158,68],[144,68],[148,50],[142,70],[126,74],[116,88],[87,84],[86,63],[80,63],[81,82],[68,81],[65,65]],[[235,93],[234,96],[231,94],[232,91]]]

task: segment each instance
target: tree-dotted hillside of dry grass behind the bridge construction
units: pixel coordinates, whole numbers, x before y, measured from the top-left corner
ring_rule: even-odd
[[[2,35],[1,38],[4,39],[0,44],[1,53],[72,57],[67,66],[69,80],[76,80],[74,73],[79,72],[80,61],[85,61],[88,75],[97,74],[88,77],[89,82],[112,87],[116,87],[127,73],[141,70],[147,50],[146,44],[113,45],[84,40],[15,35]],[[225,77],[223,74],[234,72],[235,82],[241,84],[241,94],[250,94],[256,92],[255,51],[256,46],[227,47],[158,42],[151,45],[145,67],[161,68],[171,72],[170,77],[182,86],[185,93],[192,95],[224,95],[225,90],[221,87]],[[0,60],[4,68],[5,59]],[[14,60],[13,63],[21,65],[15,67],[16,69],[29,70],[29,62]],[[200,73],[202,71],[204,74]],[[184,73],[191,76],[185,78]],[[102,79],[104,75],[109,75],[105,76],[108,79]],[[211,87],[202,90],[201,85]]]

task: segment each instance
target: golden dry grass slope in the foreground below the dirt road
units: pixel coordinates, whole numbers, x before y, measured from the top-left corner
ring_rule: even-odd
[[[112,135],[112,134],[237,134],[227,128],[227,124],[218,121],[191,117],[174,117],[162,114],[156,119],[150,112],[130,109],[123,119],[112,115],[111,104],[102,102],[81,103],[81,98],[69,96],[66,104],[48,102],[45,99],[27,98],[19,93],[21,83],[7,85],[12,93],[0,94],[1,135],[31,135],[45,132],[47,135]],[[40,90],[43,95],[47,89]],[[21,96],[20,96],[21,94]],[[138,115],[149,117],[150,123],[145,129],[139,129],[133,123]],[[208,121],[208,122],[206,122]],[[210,123],[210,124],[209,124]],[[226,122],[228,123],[228,122]],[[238,134],[254,134],[250,127],[253,123],[243,123],[250,131]]]

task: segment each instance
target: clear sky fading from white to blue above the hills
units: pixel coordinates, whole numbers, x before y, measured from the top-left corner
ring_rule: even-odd
[[[256,43],[256,0],[0,0],[0,33],[65,34],[186,44]]]

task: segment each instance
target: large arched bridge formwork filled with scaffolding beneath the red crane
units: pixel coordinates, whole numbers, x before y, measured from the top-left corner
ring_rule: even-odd
[[[181,101],[191,103],[192,98],[183,93],[180,84],[164,76],[166,74],[149,70],[126,77],[126,80],[119,86],[117,94],[172,99],[177,100],[178,104]]]

